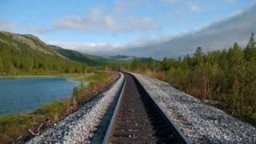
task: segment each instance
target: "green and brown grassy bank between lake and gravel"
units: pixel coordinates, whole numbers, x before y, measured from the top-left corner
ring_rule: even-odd
[[[71,98],[45,104],[31,113],[1,115],[0,116],[0,143],[23,142],[33,135],[37,135],[73,113],[94,95],[107,86],[110,86],[116,75],[113,73],[97,72],[91,74],[74,74],[71,78],[79,81],[88,81],[88,86],[74,88]],[[70,77],[70,75],[69,75]]]

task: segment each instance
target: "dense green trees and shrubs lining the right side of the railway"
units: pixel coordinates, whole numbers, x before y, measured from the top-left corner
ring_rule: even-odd
[[[130,64],[111,64],[106,70],[130,70],[170,83],[246,122],[256,124],[256,42],[251,34],[246,47]]]

